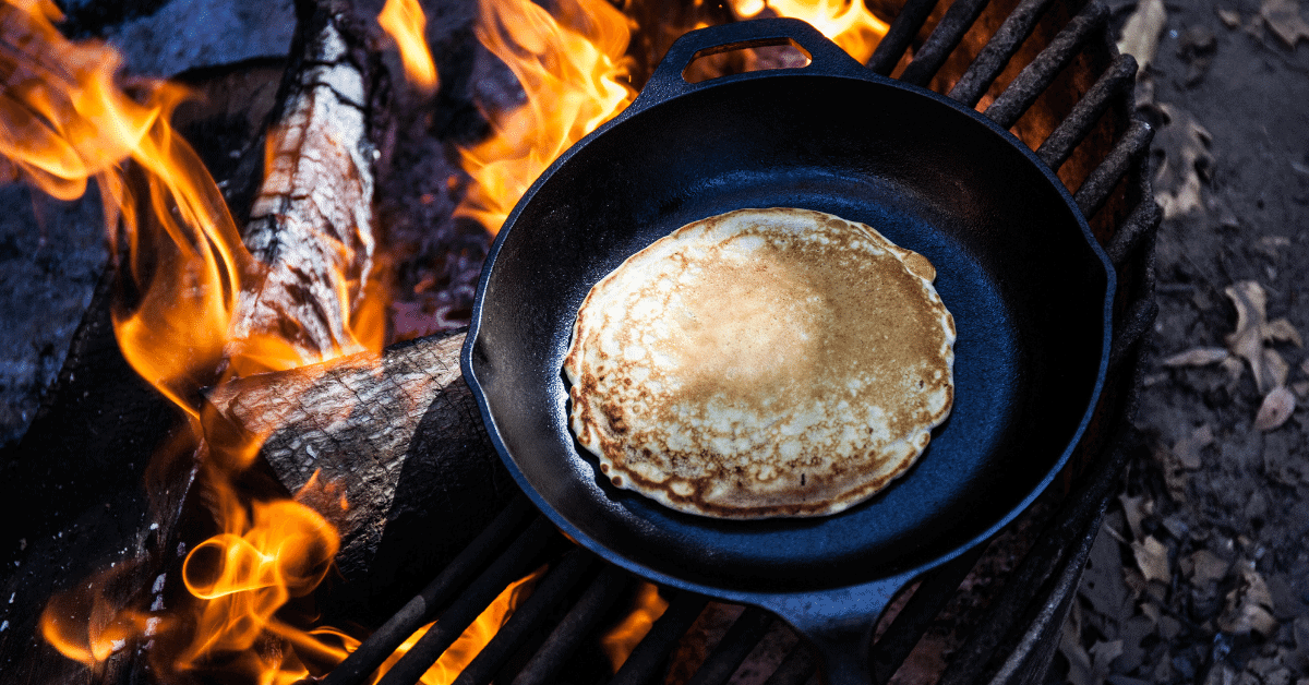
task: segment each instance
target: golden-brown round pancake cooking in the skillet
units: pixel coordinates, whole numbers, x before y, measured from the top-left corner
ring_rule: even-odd
[[[564,373],[617,486],[723,519],[823,516],[903,474],[954,398],[936,270],[797,208],[687,224],[588,293]]]

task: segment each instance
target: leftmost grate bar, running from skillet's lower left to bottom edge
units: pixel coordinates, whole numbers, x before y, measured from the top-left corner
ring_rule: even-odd
[[[528,519],[531,507],[528,498],[518,495],[491,525],[473,538],[458,557],[446,566],[423,591],[368,637],[359,648],[336,665],[323,685],[356,685],[377,671],[397,647],[454,599],[454,593],[469,584],[474,575],[491,563],[492,555],[504,545],[509,534]]]

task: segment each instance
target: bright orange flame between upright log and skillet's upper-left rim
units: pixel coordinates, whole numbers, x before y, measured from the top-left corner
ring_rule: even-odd
[[[605,0],[554,5],[558,20],[531,0],[479,0],[478,39],[526,93],[524,105],[488,117],[491,138],[459,151],[473,185],[454,213],[491,233],[546,166],[636,97],[626,83],[627,18]]]

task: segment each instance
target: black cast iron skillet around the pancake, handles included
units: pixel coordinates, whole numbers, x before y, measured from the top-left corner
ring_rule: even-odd
[[[781,43],[812,64],[682,79],[698,54]],[[678,227],[775,206],[870,224],[936,265],[958,327],[950,418],[903,478],[835,516],[724,521],[614,489],[568,428],[577,306]],[[1103,380],[1113,283],[1072,198],[1008,132],[804,22],[740,22],[681,38],[623,114],[528,190],[482,271],[463,377],[564,533],[651,580],[770,609],[823,651],[830,681],[867,681],[891,595],[986,541],[1068,458]]]

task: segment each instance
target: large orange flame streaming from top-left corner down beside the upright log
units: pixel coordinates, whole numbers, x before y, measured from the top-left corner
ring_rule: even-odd
[[[132,97],[115,81],[119,55],[64,39],[50,0],[7,0],[0,13],[0,155],[56,198],[98,179],[106,223],[122,223],[127,272],[143,291],[135,310],[114,312],[123,352],[194,415],[185,394],[221,359],[234,287],[253,265],[221,193],[168,123],[185,92],[143,81]]]

